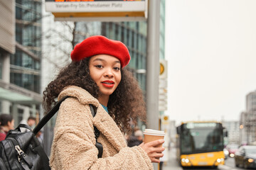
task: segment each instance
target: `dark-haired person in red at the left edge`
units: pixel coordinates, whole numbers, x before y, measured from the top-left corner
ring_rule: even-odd
[[[0,141],[5,140],[7,132],[14,130],[14,118],[9,114],[0,115]]]

